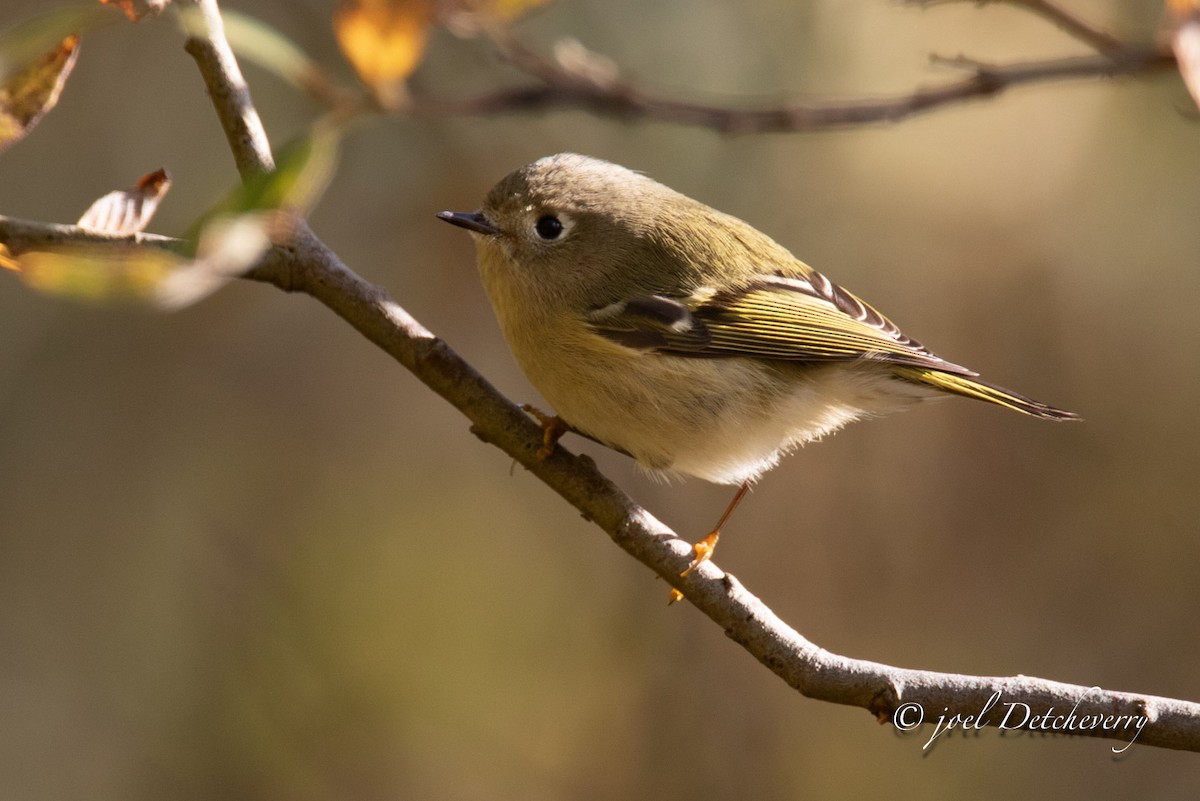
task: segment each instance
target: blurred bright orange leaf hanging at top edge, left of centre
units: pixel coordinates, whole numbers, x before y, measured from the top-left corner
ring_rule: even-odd
[[[385,103],[403,98],[404,80],[425,55],[433,0],[343,0],[334,17],[342,53]]]

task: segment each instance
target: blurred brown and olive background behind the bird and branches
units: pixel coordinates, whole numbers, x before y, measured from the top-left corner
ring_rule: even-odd
[[[222,5],[350,79],[332,4]],[[1142,42],[1162,10],[1066,5]],[[7,0],[0,28],[46,6]],[[718,102],[958,77],[930,53],[1086,52],[967,2],[558,0],[518,30]],[[72,222],[166,167],[151,229],[180,234],[227,192],[181,44],[167,19],[89,36],[58,109],[0,156],[0,213]],[[276,145],[319,113],[245,71]],[[517,80],[444,31],[413,78],[449,96]],[[1086,417],[948,401],[858,423],[761,482],[720,567],[838,654],[1200,698],[1200,125],[1177,74],[816,134],[382,119],[346,141],[313,228],[536,402],[470,241],[433,213],[563,150],[750,221],[943,356]],[[166,315],[4,273],[0,321],[6,799],[1192,797],[1194,754],[995,730],[925,753],[929,729],[798,695],[306,297],[235,282]],[[564,444],[683,536],[728,501]]]

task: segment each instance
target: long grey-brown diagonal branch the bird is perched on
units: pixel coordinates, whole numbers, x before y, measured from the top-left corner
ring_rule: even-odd
[[[61,243],[72,230],[80,239],[95,235],[71,225],[30,223],[0,217],[0,242],[18,248]],[[110,237],[109,237],[110,239]],[[125,237],[130,241],[133,237]],[[604,476],[586,456],[556,446],[536,458],[541,428],[509,402],[449,345],[418,323],[379,287],[364,281],[305,224],[288,247],[274,248],[247,278],[312,296],[403,365],[430,389],[462,411],[476,436],[520,462],[527,470],[604,529],[626,553],[649,567],[751,656],[809,698],[860,706],[881,722],[900,728],[913,715],[944,719],[976,716],[980,725],[1033,728],[1039,719],[1106,721],[1091,728],[1075,725],[1081,736],[1124,743],[1200,752],[1200,704],[1067,685],[1030,676],[968,676],[910,670],[830,654],[780,620],[733,576],[710,562],[680,578],[692,558],[691,544],[638,506]],[[997,694],[998,693],[998,694]],[[995,695],[995,699],[994,699]],[[913,705],[918,706],[913,706]],[[1004,712],[1016,705],[1016,716]],[[1027,706],[1027,713],[1025,707]],[[944,710],[944,712],[938,712]],[[1050,716],[1050,717],[1044,717]],[[1141,721],[1136,723],[1121,721]],[[1044,728],[1049,729],[1050,723]],[[1061,731],[1062,728],[1055,730]],[[936,733],[936,731],[935,731]]]

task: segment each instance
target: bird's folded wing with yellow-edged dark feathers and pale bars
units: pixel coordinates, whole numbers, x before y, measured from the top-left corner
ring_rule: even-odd
[[[906,337],[892,320],[811,269],[798,276],[761,276],[734,290],[625,299],[594,309],[588,323],[629,348],[680,356],[872,360],[974,375]]]

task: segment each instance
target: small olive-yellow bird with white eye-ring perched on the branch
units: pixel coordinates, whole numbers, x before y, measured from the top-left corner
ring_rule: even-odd
[[[1079,418],[978,379],[751,225],[617,164],[547,156],[481,210],[438,217],[470,231],[504,336],[557,412],[540,416],[544,453],[569,427],[650,474],[739,484],[682,576],[755,480],[851,421],[946,395]]]

